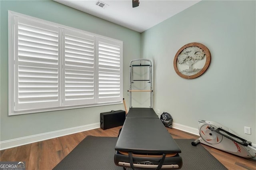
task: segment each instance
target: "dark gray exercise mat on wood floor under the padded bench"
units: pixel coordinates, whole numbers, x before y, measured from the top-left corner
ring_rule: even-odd
[[[123,170],[114,164],[116,141],[117,137],[86,136],[54,170]],[[175,141],[182,151],[182,170],[227,169],[201,144],[192,146],[194,139]]]

